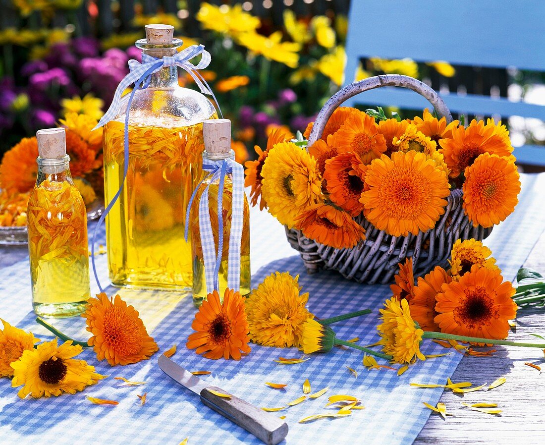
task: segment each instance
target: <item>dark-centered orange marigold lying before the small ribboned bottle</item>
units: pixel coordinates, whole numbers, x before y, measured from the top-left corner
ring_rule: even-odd
[[[233,357],[240,360],[240,351],[251,351],[244,298],[238,291],[226,289],[223,304],[216,290],[209,293],[195,314],[191,328],[197,332],[187,339],[187,348],[197,348],[197,354],[204,352],[206,358],[217,360],[223,357],[228,360]]]

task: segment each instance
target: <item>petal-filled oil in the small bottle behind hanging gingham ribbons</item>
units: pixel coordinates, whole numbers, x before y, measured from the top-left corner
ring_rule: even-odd
[[[191,206],[191,232],[193,239],[193,303],[200,306],[207,296],[206,277],[204,273],[204,260],[201,246],[201,237],[199,232],[199,212],[198,203],[201,200],[201,195],[207,184],[210,184],[208,189],[208,201],[210,209],[210,222],[212,233],[214,235],[214,243],[217,246],[217,235],[219,233],[217,220],[217,194],[219,190],[219,182],[210,183],[208,179],[201,184],[195,202]],[[223,293],[227,288],[227,265],[229,255],[229,234],[231,233],[231,202],[233,182],[229,177],[225,178],[223,189],[223,252],[220,263],[219,279],[219,294],[223,300]],[[217,253],[217,252],[216,252]],[[240,246],[240,294],[245,296],[250,293],[250,207],[246,195],[244,196],[244,224],[242,231],[242,240]]]

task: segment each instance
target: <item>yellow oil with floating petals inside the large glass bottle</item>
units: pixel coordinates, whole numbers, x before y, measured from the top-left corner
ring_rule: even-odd
[[[131,114],[129,168],[123,193],[106,217],[106,247],[114,285],[190,290],[191,240],[185,242],[185,212],[201,179],[202,123],[161,127]],[[104,130],[105,199],[123,181],[124,124]]]

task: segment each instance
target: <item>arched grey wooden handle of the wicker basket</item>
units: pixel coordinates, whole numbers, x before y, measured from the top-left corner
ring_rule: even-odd
[[[404,87],[421,94],[428,99],[429,103],[433,105],[434,110],[439,116],[446,118],[447,124],[452,122],[452,115],[441,99],[440,95],[431,87],[428,87],[425,83],[414,79],[414,77],[403,76],[401,74],[381,74],[380,76],[368,77],[367,79],[360,80],[359,82],[350,83],[346,87],[337,91],[332,97],[325,103],[322,110],[318,113],[316,121],[312,127],[310,136],[308,136],[308,146],[311,146],[316,142],[322,133],[324,132],[325,124],[328,123],[329,118],[345,100],[350,99],[356,94],[362,93],[369,89],[375,89],[380,87]]]

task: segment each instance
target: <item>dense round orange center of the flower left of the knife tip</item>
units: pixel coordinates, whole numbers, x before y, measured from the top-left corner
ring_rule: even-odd
[[[142,349],[142,335],[137,319],[126,314],[124,308],[106,309],[102,335],[104,342],[120,356],[130,356]]]

